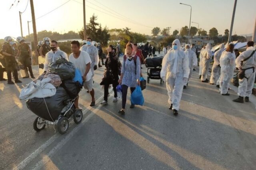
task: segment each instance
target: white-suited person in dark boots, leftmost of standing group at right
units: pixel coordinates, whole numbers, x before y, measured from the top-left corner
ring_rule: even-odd
[[[211,52],[211,44],[207,43],[204,51],[202,51],[202,77],[201,80],[204,83],[208,83],[208,69],[210,67],[212,52]]]

